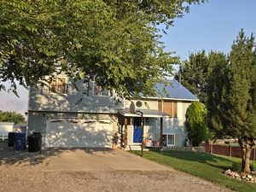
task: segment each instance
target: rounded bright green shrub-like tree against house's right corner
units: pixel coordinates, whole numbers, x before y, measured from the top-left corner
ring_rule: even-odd
[[[208,137],[206,117],[207,110],[205,105],[201,102],[192,102],[186,112],[186,125],[189,131],[188,136],[193,146],[199,146]]]

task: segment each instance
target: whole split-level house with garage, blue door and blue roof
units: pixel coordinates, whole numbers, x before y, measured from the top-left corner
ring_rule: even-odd
[[[113,143],[131,148],[146,139],[148,146],[183,146],[185,113],[198,99],[177,81],[171,83],[156,86],[160,97],[120,100],[95,81],[59,75],[30,89],[28,133],[40,132],[44,148],[111,148]]]

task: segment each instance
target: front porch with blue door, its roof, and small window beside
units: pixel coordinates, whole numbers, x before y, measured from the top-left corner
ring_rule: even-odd
[[[120,146],[125,149],[175,146],[175,134],[164,132],[164,119],[169,115],[157,110],[141,109],[135,113],[119,111]]]

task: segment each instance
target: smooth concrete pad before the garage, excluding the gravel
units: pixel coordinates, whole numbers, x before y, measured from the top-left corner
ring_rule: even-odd
[[[171,171],[120,149],[63,150],[44,164],[48,171]]]

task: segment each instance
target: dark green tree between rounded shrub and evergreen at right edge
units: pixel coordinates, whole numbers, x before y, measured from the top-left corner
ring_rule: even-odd
[[[223,53],[212,52],[208,61],[211,65],[211,71],[207,75],[207,126],[211,131],[212,139],[223,138],[227,134],[224,126],[226,125],[222,119],[222,108],[224,108],[225,94],[224,84],[228,83],[228,60]]]

